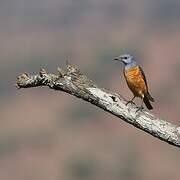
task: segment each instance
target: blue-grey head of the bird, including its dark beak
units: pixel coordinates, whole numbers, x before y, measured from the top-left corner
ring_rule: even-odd
[[[130,54],[123,54],[118,57],[116,57],[114,60],[121,61],[126,67],[133,67],[136,66],[137,63],[134,60],[134,57]]]

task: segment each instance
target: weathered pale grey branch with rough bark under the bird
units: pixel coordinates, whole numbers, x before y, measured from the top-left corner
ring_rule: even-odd
[[[95,82],[70,64],[65,70],[58,68],[57,75],[49,74],[45,69],[32,76],[23,73],[17,78],[16,86],[18,88],[48,86],[66,92],[90,102],[162,141],[180,147],[180,127],[155,117],[146,110],[136,112],[138,108],[136,105],[126,106],[127,101],[121,95],[98,88]]]

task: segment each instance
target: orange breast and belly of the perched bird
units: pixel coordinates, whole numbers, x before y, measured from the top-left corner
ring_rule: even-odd
[[[139,67],[124,70],[126,82],[135,96],[142,97],[147,93],[147,86]]]

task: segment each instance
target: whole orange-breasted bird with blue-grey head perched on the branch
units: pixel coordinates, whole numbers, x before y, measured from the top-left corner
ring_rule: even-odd
[[[126,103],[134,103],[136,97],[141,98],[141,107],[138,110],[144,109],[143,102],[149,110],[153,107],[150,103],[154,102],[154,98],[149,93],[148,84],[143,69],[138,65],[135,58],[130,54],[123,54],[116,57],[114,60],[121,61],[124,66],[124,77],[126,79],[129,89],[133,93],[133,98]]]

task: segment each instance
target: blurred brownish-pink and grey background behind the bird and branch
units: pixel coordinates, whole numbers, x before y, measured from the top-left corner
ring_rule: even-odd
[[[16,77],[69,61],[100,87],[132,97],[113,58],[132,53],[180,125],[179,0],[0,1],[0,179],[179,180],[180,150],[65,93],[17,90]],[[136,101],[139,103],[139,101]]]

